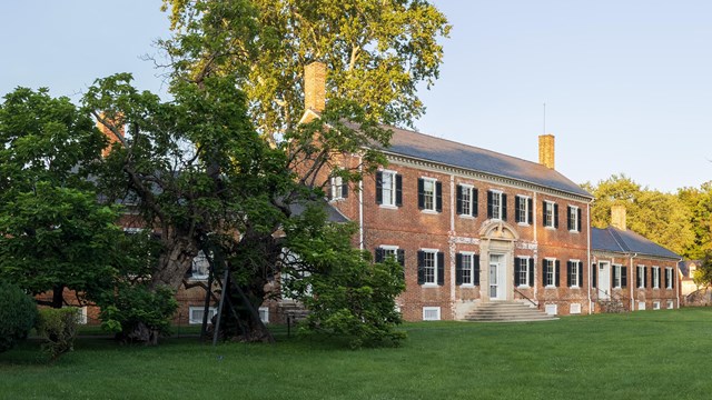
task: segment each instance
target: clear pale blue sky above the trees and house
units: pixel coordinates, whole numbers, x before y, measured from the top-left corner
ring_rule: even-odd
[[[168,34],[160,0],[0,0],[0,93],[49,87],[78,99],[93,79],[132,72]],[[575,182],[625,173],[673,191],[712,180],[712,1],[435,0],[453,24],[435,87],[433,136],[537,160]]]

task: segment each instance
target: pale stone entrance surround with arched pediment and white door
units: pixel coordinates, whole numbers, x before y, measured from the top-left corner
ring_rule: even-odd
[[[482,302],[514,300],[514,242],[518,233],[504,221],[491,220],[483,224],[479,238]]]

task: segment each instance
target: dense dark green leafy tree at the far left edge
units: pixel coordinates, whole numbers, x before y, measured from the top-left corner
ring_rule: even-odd
[[[32,294],[111,287],[117,210],[88,180],[106,138],[68,98],[18,88],[0,104],[0,278]],[[101,257],[97,257],[101,254]]]

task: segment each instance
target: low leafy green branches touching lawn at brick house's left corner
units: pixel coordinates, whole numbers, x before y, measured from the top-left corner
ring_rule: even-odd
[[[394,260],[372,263],[353,249],[353,224],[325,224],[323,211],[309,208],[288,224],[287,243],[298,262],[283,272],[287,290],[309,310],[307,327],[346,338],[352,348],[398,346],[400,314],[395,299],[405,289],[403,268]],[[316,229],[313,229],[316,227]]]

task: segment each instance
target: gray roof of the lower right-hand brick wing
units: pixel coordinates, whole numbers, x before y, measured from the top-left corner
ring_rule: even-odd
[[[613,227],[607,227],[605,229],[591,228],[591,248],[593,250],[637,253],[639,256],[653,256],[671,259],[681,258],[674,252],[633,231],[622,231]]]

